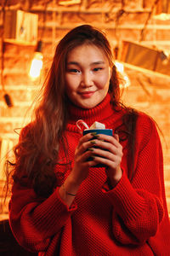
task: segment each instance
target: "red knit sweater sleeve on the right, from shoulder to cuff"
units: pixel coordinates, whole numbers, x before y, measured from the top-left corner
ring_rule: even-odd
[[[114,189],[103,189],[113,205],[113,235],[124,245],[143,244],[155,236],[166,205],[160,139],[155,123],[144,119],[144,124],[138,123],[132,183],[124,171]]]

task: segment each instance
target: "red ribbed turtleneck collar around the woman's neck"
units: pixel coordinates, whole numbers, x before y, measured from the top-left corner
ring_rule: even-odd
[[[111,96],[109,93],[105,96],[103,102],[100,102],[99,105],[94,108],[83,109],[69,103],[68,111],[70,116],[68,122],[69,126],[76,124],[78,119],[83,119],[88,126],[90,126],[95,121],[102,122],[102,120],[108,119],[111,114],[114,113],[111,107]]]

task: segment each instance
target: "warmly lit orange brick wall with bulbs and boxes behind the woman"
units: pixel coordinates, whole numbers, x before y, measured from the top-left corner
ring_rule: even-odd
[[[122,102],[150,114],[164,135],[170,213],[169,0],[0,1],[0,191],[4,156],[11,154],[20,128],[30,120],[31,103],[48,73],[56,44],[82,24],[96,26],[110,40]],[[0,219],[5,218],[7,207],[0,212]]]

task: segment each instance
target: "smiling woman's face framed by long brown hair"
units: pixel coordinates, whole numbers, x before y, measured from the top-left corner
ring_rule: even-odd
[[[80,108],[94,108],[109,90],[111,67],[102,49],[82,44],[67,56],[65,86],[71,102]]]

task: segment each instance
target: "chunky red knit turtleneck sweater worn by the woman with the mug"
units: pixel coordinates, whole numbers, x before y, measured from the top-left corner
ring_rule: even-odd
[[[97,120],[113,130],[121,125],[125,110],[113,111],[110,99],[106,96],[104,102],[90,110],[71,106],[65,137],[72,165],[81,137],[75,125],[77,119],[84,119],[88,125]],[[123,175],[116,187],[105,190],[105,168],[93,167],[70,208],[59,198],[59,188],[44,200],[32,189],[15,183],[9,220],[20,245],[46,256],[169,255],[170,225],[155,123],[139,114],[132,183],[127,178],[127,142],[122,146]],[[65,168],[68,175],[71,167],[59,165],[56,171],[65,172]]]

